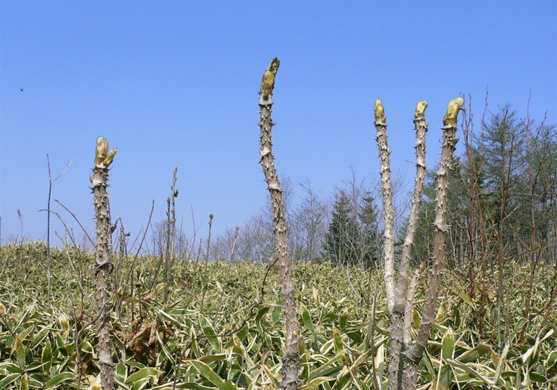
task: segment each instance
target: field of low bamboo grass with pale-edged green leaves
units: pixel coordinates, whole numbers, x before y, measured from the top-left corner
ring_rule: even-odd
[[[0,247],[0,389],[99,389],[94,254],[53,248],[50,297],[46,259],[44,243]],[[481,334],[472,318],[480,303],[468,295],[469,281],[445,272],[420,389],[555,388],[556,269],[536,268],[531,314],[524,318],[531,268],[506,267],[501,315],[495,283],[485,283],[490,291]],[[161,259],[149,256],[114,264],[118,386],[276,389],[284,350],[279,270],[210,263],[205,272],[204,263],[178,260],[165,283],[162,268]],[[298,263],[294,280],[299,388],[386,389],[382,269]],[[422,296],[423,285],[418,311]]]

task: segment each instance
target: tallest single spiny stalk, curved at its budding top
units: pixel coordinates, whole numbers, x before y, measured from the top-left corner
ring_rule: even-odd
[[[300,326],[296,317],[296,295],[292,283],[292,267],[290,263],[290,251],[286,237],[285,210],[283,202],[283,188],[279,182],[279,176],[274,167],[274,156],[272,153],[272,127],[274,125],[272,113],[272,95],[276,72],[281,62],[279,58],[273,58],[269,67],[263,73],[261,87],[259,89],[259,127],[261,128],[261,155],[260,164],[263,166],[265,182],[271,195],[272,213],[274,220],[274,235],[276,248],[279,254],[281,266],[281,279],[283,285],[283,304],[285,312],[286,340],[285,356],[283,357],[283,380],[281,389],[296,390],[298,388],[298,369],[300,367],[300,356],[298,350],[298,335]]]

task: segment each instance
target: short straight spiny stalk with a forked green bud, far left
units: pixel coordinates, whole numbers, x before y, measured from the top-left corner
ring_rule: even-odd
[[[114,388],[114,363],[112,361],[112,343],[110,340],[110,288],[109,279],[112,270],[111,246],[112,226],[110,222],[110,204],[107,194],[109,166],[118,153],[118,149],[108,151],[109,143],[105,138],[97,139],[95,165],[90,180],[96,219],[96,293],[98,326],[98,365],[102,389]]]

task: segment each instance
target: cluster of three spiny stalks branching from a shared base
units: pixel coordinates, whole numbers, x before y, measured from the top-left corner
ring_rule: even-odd
[[[380,173],[382,195],[384,202],[384,261],[385,261],[385,289],[387,307],[391,318],[391,350],[389,351],[389,389],[415,389],[418,379],[418,365],[421,362],[424,349],[427,345],[431,323],[437,308],[437,297],[441,283],[441,265],[444,259],[445,231],[447,230],[446,213],[446,188],[447,175],[455,152],[458,138],[457,116],[462,109],[462,98],[452,99],[449,102],[447,113],[443,119],[444,138],[441,147],[441,162],[437,171],[436,188],[436,213],[435,213],[435,241],[431,278],[428,287],[427,299],[422,314],[422,325],[417,331],[417,340],[412,340],[412,311],[414,294],[419,281],[419,275],[424,270],[424,263],[417,268],[413,277],[409,277],[411,250],[415,236],[419,204],[422,199],[424,179],[426,174],[426,132],[428,124],[425,121],[427,102],[417,102],[414,124],[416,131],[416,176],[412,197],[411,212],[406,227],[406,237],[402,246],[402,259],[400,260],[399,277],[395,280],[395,254],[394,254],[394,210],[391,189],[391,169],[389,162],[389,147],[386,142],[386,117],[381,100],[375,100],[375,128],[377,129],[377,142],[379,147]]]

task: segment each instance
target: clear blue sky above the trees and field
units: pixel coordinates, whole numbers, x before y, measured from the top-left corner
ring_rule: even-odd
[[[490,109],[510,103],[519,116],[531,91],[530,116],[548,111],[557,122],[556,1],[2,0],[0,18],[2,243],[20,233],[18,209],[23,235],[45,238],[47,153],[54,176],[74,160],[52,197],[93,231],[98,136],[120,149],[111,210],[132,235],[153,199],[162,219],[175,165],[184,228],[190,207],[197,225],[214,213],[216,232],[258,213],[268,193],[257,164],[257,89],[274,56],[279,175],[309,180],[322,195],[350,166],[377,177],[377,97],[393,170],[409,183],[417,100],[429,103],[430,165],[446,104],[459,93],[472,94],[479,120],[486,87]]]

